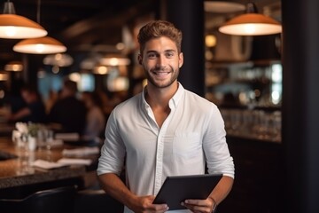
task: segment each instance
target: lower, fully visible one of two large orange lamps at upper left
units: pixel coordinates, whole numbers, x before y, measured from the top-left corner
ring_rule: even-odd
[[[45,36],[22,40],[13,46],[13,51],[31,54],[53,54],[65,52],[66,46],[52,37]]]

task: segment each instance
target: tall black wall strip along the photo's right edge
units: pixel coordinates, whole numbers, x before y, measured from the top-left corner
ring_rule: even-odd
[[[283,0],[286,212],[319,212],[319,1]]]

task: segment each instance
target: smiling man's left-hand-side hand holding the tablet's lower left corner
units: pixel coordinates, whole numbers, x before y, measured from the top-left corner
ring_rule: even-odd
[[[155,197],[152,195],[136,197],[134,201],[132,201],[132,205],[128,208],[135,213],[163,213],[168,210],[167,204],[152,204],[154,199]]]

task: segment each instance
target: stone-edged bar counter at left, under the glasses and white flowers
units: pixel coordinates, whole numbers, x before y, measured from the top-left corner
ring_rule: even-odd
[[[0,152],[3,158],[0,160],[0,194],[1,191],[9,188],[84,177],[88,171],[88,167],[84,165],[72,165],[51,170],[43,170],[30,165],[31,162],[38,159],[57,162],[63,157],[62,150],[64,148],[76,147],[79,146],[55,146],[51,147],[50,150],[42,147],[33,152],[23,153],[13,146],[11,138],[0,138]],[[12,157],[12,159],[4,160],[6,157]],[[89,156],[93,162],[97,161],[97,157],[97,155]]]

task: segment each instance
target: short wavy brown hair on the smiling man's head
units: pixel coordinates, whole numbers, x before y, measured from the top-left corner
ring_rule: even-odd
[[[153,20],[144,25],[138,33],[137,40],[140,44],[140,53],[142,54],[145,48],[145,43],[152,38],[166,36],[175,42],[177,51],[182,50],[182,31],[166,20]]]

